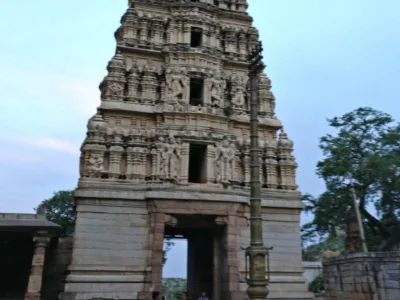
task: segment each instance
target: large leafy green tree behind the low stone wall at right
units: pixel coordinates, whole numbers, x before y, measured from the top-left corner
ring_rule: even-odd
[[[314,213],[314,220],[302,228],[303,238],[313,241],[345,229],[354,211],[353,182],[369,247],[388,249],[399,241],[400,125],[369,107],[328,122],[336,134],[320,139],[324,158],[317,164],[326,191],[319,197],[303,196],[306,211]]]

